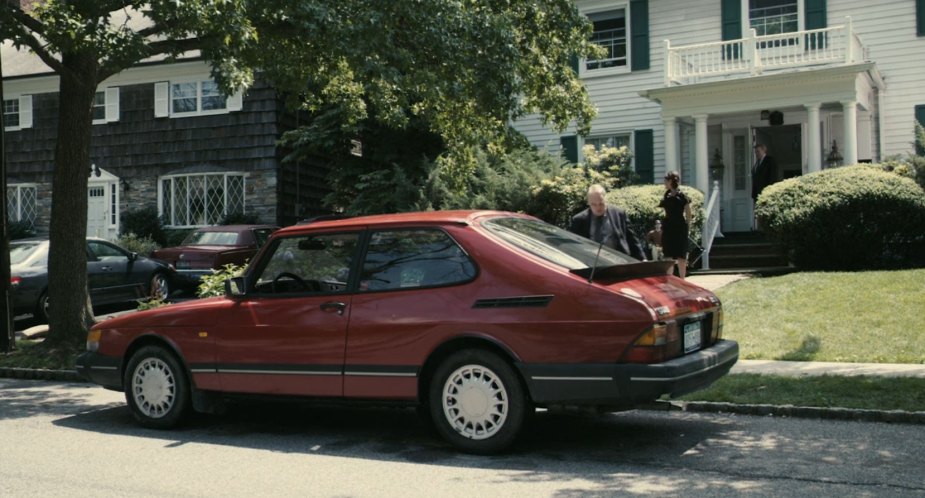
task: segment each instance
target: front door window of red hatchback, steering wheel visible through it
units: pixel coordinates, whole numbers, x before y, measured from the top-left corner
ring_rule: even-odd
[[[359,234],[300,235],[279,240],[257,276],[260,294],[347,290]]]

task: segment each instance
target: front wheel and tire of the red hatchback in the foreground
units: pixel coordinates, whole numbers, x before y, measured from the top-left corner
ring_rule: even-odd
[[[177,357],[160,346],[145,346],[128,362],[123,382],[125,400],[141,425],[152,429],[177,426],[190,407],[190,386]]]

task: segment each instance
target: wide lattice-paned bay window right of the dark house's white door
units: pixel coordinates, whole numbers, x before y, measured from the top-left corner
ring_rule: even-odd
[[[161,216],[172,227],[216,225],[244,214],[244,174],[208,173],[161,178]]]

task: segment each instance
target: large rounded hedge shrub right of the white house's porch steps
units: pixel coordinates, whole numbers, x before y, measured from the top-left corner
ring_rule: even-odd
[[[922,189],[877,168],[848,166],[771,185],[756,215],[799,267],[871,269],[925,259]]]

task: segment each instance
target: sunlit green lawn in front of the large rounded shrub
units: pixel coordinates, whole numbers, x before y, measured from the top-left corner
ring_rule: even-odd
[[[925,363],[925,269],[791,273],[716,294],[740,359]]]

